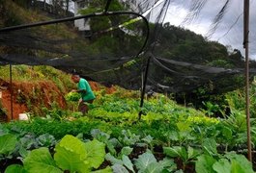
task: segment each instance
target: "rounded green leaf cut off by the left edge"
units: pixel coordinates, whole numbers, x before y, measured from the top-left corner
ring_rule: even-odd
[[[0,136],[0,155],[8,155],[13,152],[16,142],[16,136],[12,134]]]

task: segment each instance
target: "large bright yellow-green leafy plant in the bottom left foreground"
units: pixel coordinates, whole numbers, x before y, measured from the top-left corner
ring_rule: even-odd
[[[27,172],[94,172],[104,161],[104,144],[94,139],[89,142],[82,142],[74,136],[64,136],[56,145],[54,157],[51,157],[49,150],[45,147],[35,149],[23,161],[23,167],[11,165],[8,171]],[[103,172],[111,172],[106,167]]]

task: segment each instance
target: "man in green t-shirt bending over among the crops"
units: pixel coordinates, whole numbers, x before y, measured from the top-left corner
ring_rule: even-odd
[[[72,74],[71,80],[77,84],[77,89],[72,89],[71,91],[78,92],[81,95],[78,104],[78,111],[81,111],[83,114],[85,114],[89,110],[87,104],[92,104],[96,99],[96,96],[89,83],[79,75]]]

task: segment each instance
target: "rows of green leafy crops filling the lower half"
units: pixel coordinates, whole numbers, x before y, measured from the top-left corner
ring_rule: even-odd
[[[9,172],[254,172],[245,158],[242,111],[225,118],[177,106],[161,94],[139,107],[139,93],[97,92],[90,111],[43,108],[29,121],[0,126],[1,171]],[[143,111],[138,121],[138,112]],[[251,120],[252,144],[256,143]]]

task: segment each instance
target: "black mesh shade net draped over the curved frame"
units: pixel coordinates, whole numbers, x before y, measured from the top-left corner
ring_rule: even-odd
[[[37,1],[33,2],[35,5]],[[114,10],[113,2],[103,2],[95,12],[82,12],[79,17],[44,19],[34,25],[24,19],[19,23],[21,27],[16,28],[4,20],[0,30],[0,64],[50,65],[102,84],[130,89],[139,89],[143,84],[169,92],[208,85],[215,92],[239,87],[236,82],[243,75],[242,58],[234,62],[232,57],[221,55],[217,61],[228,60],[232,63],[228,67],[210,63],[215,61],[209,60],[221,46],[217,44],[213,49],[204,37],[195,37],[191,32],[190,42],[186,41],[175,27],[164,23],[172,1],[145,0],[132,6],[122,1],[122,8]],[[78,21],[87,29],[75,27]],[[200,46],[191,41],[193,37],[209,49],[198,51]],[[177,46],[174,40],[184,44]],[[191,45],[189,49],[187,44]],[[177,51],[181,49],[188,53]]]

